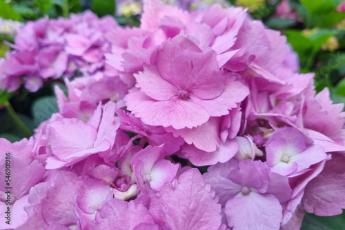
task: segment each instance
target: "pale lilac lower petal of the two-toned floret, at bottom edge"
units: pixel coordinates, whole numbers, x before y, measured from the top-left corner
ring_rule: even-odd
[[[282,206],[275,196],[251,192],[228,200],[224,212],[233,230],[276,230],[282,222]]]

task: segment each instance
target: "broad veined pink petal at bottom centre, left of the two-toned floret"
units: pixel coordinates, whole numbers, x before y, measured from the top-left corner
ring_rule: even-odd
[[[197,169],[190,169],[172,186],[164,185],[157,202],[150,211],[159,214],[168,229],[218,230],[221,225],[221,205],[215,193],[210,191]],[[158,205],[158,207],[157,207]]]

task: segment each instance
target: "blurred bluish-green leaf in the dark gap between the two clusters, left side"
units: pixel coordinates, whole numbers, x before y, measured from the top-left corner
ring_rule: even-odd
[[[59,112],[56,96],[43,96],[34,101],[32,105],[32,116],[35,125],[48,120],[56,112]]]

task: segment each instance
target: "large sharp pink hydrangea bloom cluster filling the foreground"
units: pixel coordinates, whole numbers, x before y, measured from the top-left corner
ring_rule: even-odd
[[[344,105],[315,94],[284,36],[243,8],[154,0],[140,28],[112,29],[107,70],[56,87],[59,112],[29,140],[0,139],[12,229],[299,229],[304,210],[342,213]]]

